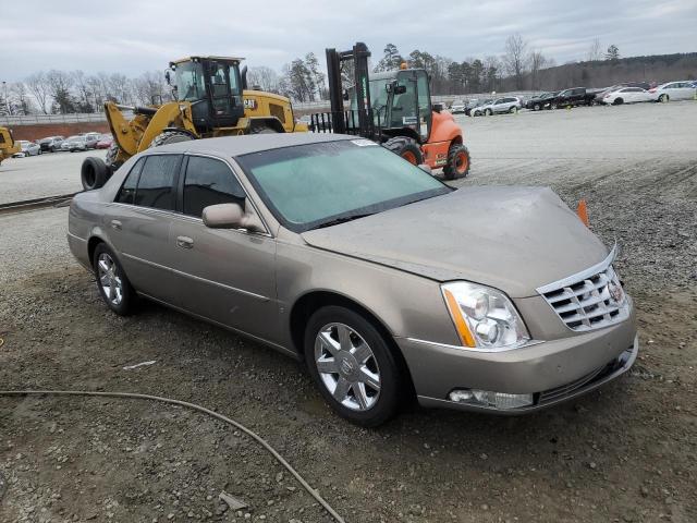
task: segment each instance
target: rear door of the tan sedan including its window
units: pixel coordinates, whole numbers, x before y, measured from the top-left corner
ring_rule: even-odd
[[[176,295],[168,244],[181,162],[181,155],[142,158],[108,206],[103,222],[135,289],[168,303]]]

